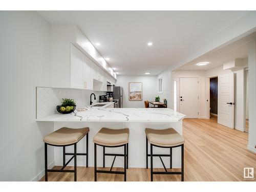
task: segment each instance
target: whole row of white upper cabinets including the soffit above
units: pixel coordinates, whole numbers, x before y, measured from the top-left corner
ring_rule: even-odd
[[[51,27],[51,80],[54,88],[106,91],[115,73],[76,25]]]

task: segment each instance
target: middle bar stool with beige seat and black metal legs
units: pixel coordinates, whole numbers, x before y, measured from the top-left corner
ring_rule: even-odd
[[[103,127],[93,138],[94,142],[94,180],[97,181],[97,173],[105,174],[123,174],[126,181],[126,168],[128,168],[128,141],[129,129],[108,129]],[[103,147],[103,167],[105,167],[105,156],[115,156],[110,170],[97,170],[97,145]],[[124,147],[124,154],[109,154],[105,153],[105,147]],[[127,150],[127,151],[126,151]],[[124,159],[124,171],[113,171],[113,165],[116,156],[121,156]]]

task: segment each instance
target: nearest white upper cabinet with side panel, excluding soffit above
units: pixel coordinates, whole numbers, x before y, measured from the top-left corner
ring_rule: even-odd
[[[73,44],[52,44],[52,87],[93,90],[92,63]]]

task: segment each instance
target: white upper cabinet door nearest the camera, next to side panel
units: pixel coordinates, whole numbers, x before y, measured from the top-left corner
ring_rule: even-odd
[[[83,66],[84,66],[83,53],[71,44],[71,47],[70,47],[70,87],[71,88],[84,88]],[[59,72],[61,73],[61,69]]]

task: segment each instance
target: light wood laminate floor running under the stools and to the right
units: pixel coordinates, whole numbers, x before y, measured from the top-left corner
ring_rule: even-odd
[[[220,125],[216,118],[184,119],[183,136],[185,181],[244,181],[244,167],[256,169],[256,154],[247,150],[248,133]],[[122,170],[122,168],[113,168],[113,170]],[[254,170],[254,178],[256,178],[256,170]],[[49,181],[73,181],[73,179],[72,173],[48,173]],[[45,177],[41,178],[41,181],[44,180]],[[94,168],[77,167],[77,180],[94,181]],[[123,175],[98,174],[98,181],[123,181]],[[150,181],[150,169],[127,169],[127,181]],[[180,181],[180,176],[155,175],[154,181]]]

